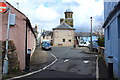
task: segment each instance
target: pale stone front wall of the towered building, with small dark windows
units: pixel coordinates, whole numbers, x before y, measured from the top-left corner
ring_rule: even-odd
[[[65,42],[63,42],[65,39]],[[54,30],[53,31],[53,46],[73,46],[74,45],[74,30]]]

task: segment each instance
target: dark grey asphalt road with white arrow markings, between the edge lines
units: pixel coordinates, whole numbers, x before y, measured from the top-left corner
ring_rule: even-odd
[[[96,78],[97,54],[83,53],[87,48],[53,47],[51,51],[42,51],[56,56],[56,62],[37,73],[21,79],[38,78]],[[38,58],[37,58],[38,59]],[[38,59],[39,60],[39,59]],[[38,67],[38,66],[37,66]],[[39,66],[41,67],[41,65]]]

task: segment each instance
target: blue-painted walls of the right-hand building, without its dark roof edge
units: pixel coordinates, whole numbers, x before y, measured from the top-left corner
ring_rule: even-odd
[[[110,10],[112,10],[113,6],[116,3],[107,3],[105,5],[105,18],[108,16]],[[120,11],[118,11],[113,18],[110,20],[110,22],[105,27],[105,60],[106,63],[108,63],[108,56],[113,56],[113,71],[114,76],[118,77],[120,76],[119,70],[120,70],[120,40],[118,38],[118,35],[120,35],[118,32],[118,16],[120,15]],[[109,27],[109,31],[108,31]],[[108,39],[109,35],[109,39]]]

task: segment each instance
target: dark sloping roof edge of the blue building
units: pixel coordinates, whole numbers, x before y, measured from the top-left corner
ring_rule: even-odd
[[[118,2],[118,4],[114,7],[114,9],[109,13],[107,19],[105,20],[104,24],[103,24],[103,28],[105,28],[107,26],[107,24],[110,22],[110,20],[113,18],[113,16],[120,10],[120,1]]]

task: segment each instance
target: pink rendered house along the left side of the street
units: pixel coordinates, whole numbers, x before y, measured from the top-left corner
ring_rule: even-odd
[[[27,50],[31,50],[31,56],[36,47],[36,35],[31,26],[30,20],[18,9],[13,7],[8,2],[4,1],[11,9],[11,19],[15,20],[14,24],[10,24],[9,40],[13,41],[16,47],[20,69],[26,67]],[[0,41],[6,40],[8,11],[0,14]],[[10,20],[11,20],[10,19]]]

